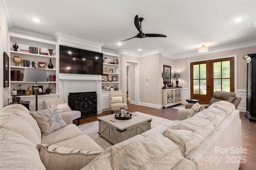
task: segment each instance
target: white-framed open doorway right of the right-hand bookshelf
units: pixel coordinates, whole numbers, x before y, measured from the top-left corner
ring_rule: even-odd
[[[140,105],[140,63],[137,61],[125,61],[125,87],[131,104]]]

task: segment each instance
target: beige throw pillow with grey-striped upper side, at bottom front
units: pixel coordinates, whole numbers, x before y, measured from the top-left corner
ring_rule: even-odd
[[[37,145],[47,170],[80,170],[102,151],[71,149],[56,145]]]

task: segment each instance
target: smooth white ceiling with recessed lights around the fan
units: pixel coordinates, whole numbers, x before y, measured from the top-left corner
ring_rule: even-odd
[[[256,45],[255,0],[1,0],[10,31],[20,29],[53,37],[55,32],[103,43],[104,49],[143,55],[153,50],[173,59]],[[164,37],[133,38],[134,17],[143,17],[144,33]],[[30,18],[42,22],[35,23]],[[243,17],[239,23],[234,19]],[[142,51],[138,51],[138,48]],[[204,53],[204,54],[206,54]]]

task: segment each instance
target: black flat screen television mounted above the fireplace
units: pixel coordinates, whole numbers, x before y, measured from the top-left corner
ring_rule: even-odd
[[[60,45],[60,73],[103,73],[103,53]]]

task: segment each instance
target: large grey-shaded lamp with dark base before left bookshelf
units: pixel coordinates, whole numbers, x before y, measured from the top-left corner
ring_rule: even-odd
[[[37,82],[47,82],[46,70],[44,68],[36,68],[36,67],[25,68],[23,82],[35,82],[33,90],[36,95],[36,111],[37,111],[38,109],[37,95],[39,92]]]

